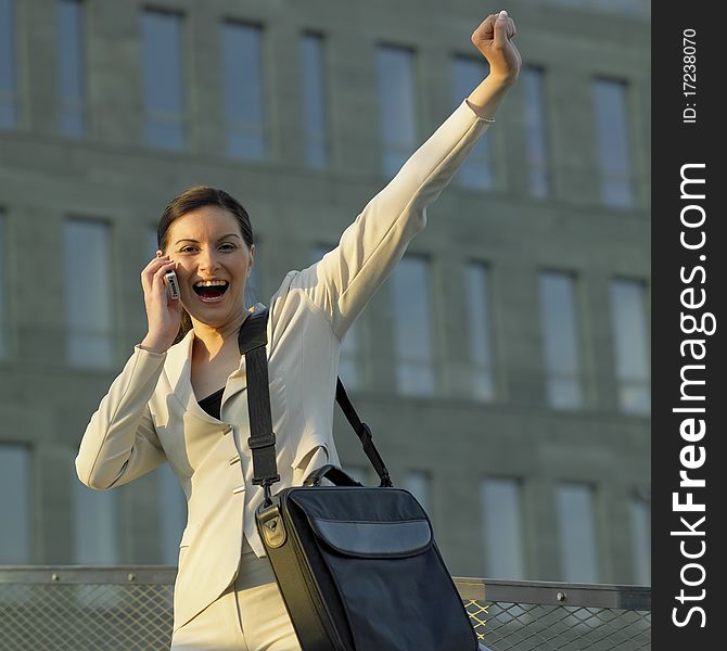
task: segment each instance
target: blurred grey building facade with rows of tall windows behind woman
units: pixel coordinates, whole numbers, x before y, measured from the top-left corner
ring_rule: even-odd
[[[93,492],[73,464],[145,332],[164,206],[238,197],[265,303],[486,75],[500,9],[0,0],[0,563],[176,562],[167,468]],[[650,5],[506,9],[521,78],[341,374],[454,574],[648,584]]]

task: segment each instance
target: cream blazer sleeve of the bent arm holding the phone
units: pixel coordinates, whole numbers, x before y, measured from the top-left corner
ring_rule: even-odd
[[[165,358],[137,346],[91,417],[76,457],[78,478],[90,488],[120,486],[165,461],[149,409]]]

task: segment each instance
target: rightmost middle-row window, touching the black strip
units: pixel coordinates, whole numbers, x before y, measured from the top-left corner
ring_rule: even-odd
[[[646,288],[638,280],[611,283],[618,405],[625,413],[650,412],[651,388]]]

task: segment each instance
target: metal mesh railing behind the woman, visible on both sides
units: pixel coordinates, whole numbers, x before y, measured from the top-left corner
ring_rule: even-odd
[[[0,651],[167,650],[176,567],[0,567]],[[651,649],[646,587],[456,578],[492,651]]]

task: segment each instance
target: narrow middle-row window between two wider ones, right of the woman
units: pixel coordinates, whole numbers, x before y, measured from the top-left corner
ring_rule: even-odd
[[[489,273],[480,263],[465,268],[467,316],[472,365],[472,395],[492,400],[494,391],[492,337],[489,332]]]

